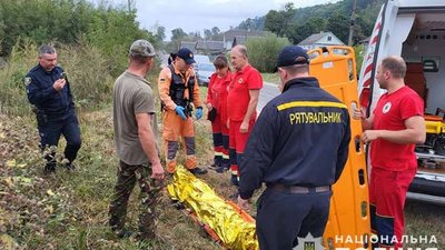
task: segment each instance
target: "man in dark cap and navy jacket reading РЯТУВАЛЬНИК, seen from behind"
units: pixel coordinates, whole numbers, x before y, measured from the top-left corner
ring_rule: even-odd
[[[345,104],[309,77],[309,58],[297,46],[277,60],[283,93],[263,109],[240,162],[238,204],[258,200],[257,236],[261,250],[289,250],[297,237],[323,236],[332,184],[344,169],[350,141]]]

